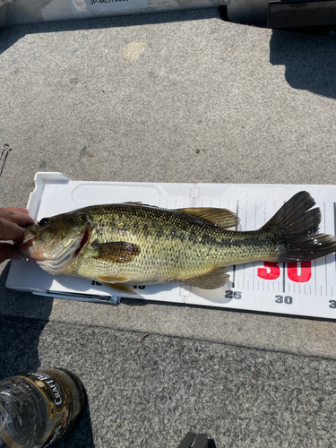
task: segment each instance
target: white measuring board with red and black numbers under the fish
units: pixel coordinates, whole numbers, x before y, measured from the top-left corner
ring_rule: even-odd
[[[72,181],[60,173],[37,173],[31,216],[40,220],[94,203],[143,202],[163,208],[220,207],[237,212],[238,230],[261,228],[281,205],[308,191],[322,211],[321,232],[335,235],[335,185],[150,184]],[[178,281],[134,289],[148,300],[220,306],[277,314],[336,318],[335,254],[305,263],[246,263],[231,266],[228,283],[214,290]],[[119,294],[91,280],[51,276],[34,264],[15,261],[6,286],[44,296],[112,303]]]

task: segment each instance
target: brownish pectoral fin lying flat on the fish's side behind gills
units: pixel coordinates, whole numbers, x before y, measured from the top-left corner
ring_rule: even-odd
[[[107,263],[129,263],[140,254],[140,247],[127,241],[92,243],[92,247],[97,251],[94,258]]]

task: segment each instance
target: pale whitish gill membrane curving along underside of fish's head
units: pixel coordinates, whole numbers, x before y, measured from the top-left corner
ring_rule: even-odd
[[[87,228],[82,238],[78,238],[73,245],[67,247],[57,258],[49,258],[45,260],[34,260],[30,258],[30,262],[38,264],[44,271],[49,274],[56,275],[65,271],[65,268],[73,262],[75,258],[82,252],[82,248],[86,245],[90,237],[90,231]]]

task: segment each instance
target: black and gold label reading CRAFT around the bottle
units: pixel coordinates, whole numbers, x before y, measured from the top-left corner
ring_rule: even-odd
[[[73,393],[70,385],[53,370],[52,376],[46,372],[30,372],[20,375],[39,389],[47,409],[47,435],[44,444],[53,443],[71,426],[73,417]]]

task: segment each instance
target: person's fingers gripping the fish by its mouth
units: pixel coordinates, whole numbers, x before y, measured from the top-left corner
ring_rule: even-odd
[[[24,230],[22,227],[34,224],[29,211],[21,207],[0,208],[0,240],[1,241],[22,241]],[[0,263],[12,258],[19,260],[22,254],[10,243],[0,243]]]

